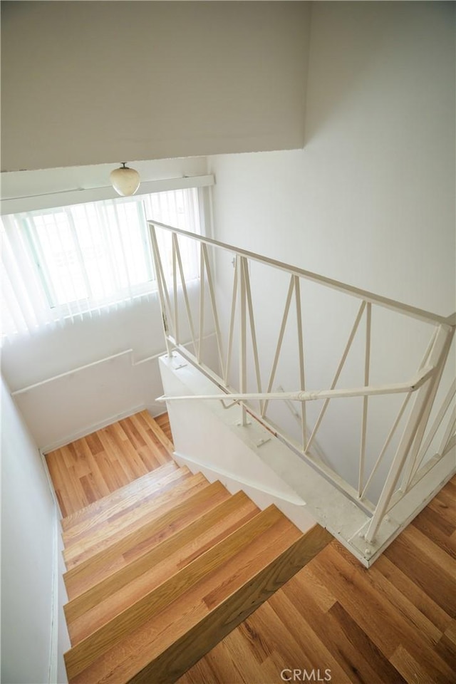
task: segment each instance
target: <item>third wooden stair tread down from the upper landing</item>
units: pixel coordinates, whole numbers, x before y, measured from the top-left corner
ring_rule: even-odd
[[[210,546],[252,519],[259,509],[244,492],[209,510],[180,532],[124,566],[65,606],[68,632],[74,645],[95,629],[162,584]]]

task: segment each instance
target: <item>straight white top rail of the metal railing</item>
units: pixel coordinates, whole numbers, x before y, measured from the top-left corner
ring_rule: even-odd
[[[287,273],[299,276],[300,278],[305,278],[307,280],[314,281],[323,286],[330,287],[332,289],[345,292],[348,295],[356,297],[358,299],[363,299],[364,301],[371,302],[372,304],[378,304],[378,306],[383,306],[385,309],[393,309],[393,311],[399,311],[405,316],[411,316],[412,318],[418,318],[420,321],[425,321],[426,323],[433,323],[434,325],[445,325],[445,326],[455,326],[456,324],[456,314],[451,316],[439,316],[438,314],[432,314],[431,311],[425,311],[424,309],[418,309],[415,306],[409,306],[408,304],[403,304],[403,302],[395,301],[395,299],[388,299],[388,297],[383,297],[373,292],[367,290],[362,290],[358,287],[353,287],[345,283],[341,283],[338,280],[333,280],[331,278],[326,278],[312,271],[306,271],[300,269],[298,266],[292,266],[291,264],[286,264],[284,261],[278,261],[277,259],[270,259],[269,257],[261,256],[256,252],[249,252],[247,249],[240,249],[239,247],[234,247],[232,244],[227,244],[226,242],[218,242],[210,237],[205,237],[204,235],[198,235],[187,230],[182,230],[181,228],[175,228],[168,226],[165,223],[160,223],[154,219],[148,219],[147,223],[149,225],[157,226],[159,228],[168,230],[170,232],[176,233],[178,235],[183,235],[185,237],[190,237],[197,242],[202,242],[204,244],[212,244],[214,247],[219,247],[220,249],[226,249],[228,252],[234,252],[234,254],[239,254],[241,257],[247,257],[247,259],[252,259],[253,261],[259,261],[262,264],[268,264],[281,271],[286,271]]]

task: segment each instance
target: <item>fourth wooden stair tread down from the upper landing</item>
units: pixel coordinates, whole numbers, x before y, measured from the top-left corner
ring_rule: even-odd
[[[145,554],[172,534],[185,529],[204,513],[229,499],[230,494],[220,482],[199,489],[169,509],[161,510],[158,517],[147,520],[129,534],[97,554],[68,570],[63,579],[68,598],[76,598],[91,586],[98,584],[116,570]]]

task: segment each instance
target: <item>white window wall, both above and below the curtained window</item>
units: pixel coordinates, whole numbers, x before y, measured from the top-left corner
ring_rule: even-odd
[[[184,175],[204,175],[204,157],[155,160],[138,165],[142,180],[160,180]],[[86,175],[87,172],[87,175]],[[2,174],[5,197],[58,193],[84,184],[103,185],[109,166],[81,169],[41,170]],[[204,222],[204,216],[202,216]],[[198,288],[189,287],[193,309],[198,304]],[[206,301],[207,308],[209,299]],[[190,340],[182,296],[182,341]],[[206,333],[213,329],[206,317]],[[128,350],[115,361],[103,361]],[[149,300],[135,299],[118,304],[110,311],[93,311],[64,326],[47,326],[32,336],[6,342],[2,348],[2,370],[13,392],[46,382],[16,395],[34,440],[41,449],[67,443],[117,420],[123,415],[147,408],[152,415],[165,410],[155,398],[162,394],[157,360],[136,365],[165,351],[160,305],[157,295]],[[206,343],[207,361],[212,361],[214,341]],[[95,364],[90,369],[78,369]],[[76,373],[73,373],[76,371]],[[62,374],[63,378],[59,377]]]

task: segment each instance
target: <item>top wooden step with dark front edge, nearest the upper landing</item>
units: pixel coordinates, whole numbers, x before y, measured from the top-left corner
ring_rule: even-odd
[[[269,528],[224,557],[202,581],[185,585],[178,601],[165,603],[138,628],[128,625],[120,643],[103,653],[98,649],[86,669],[87,658],[73,660],[68,652],[71,684],[174,681],[331,539],[318,526],[303,536],[281,514],[274,517],[266,509],[257,518],[263,514],[271,516]]]

